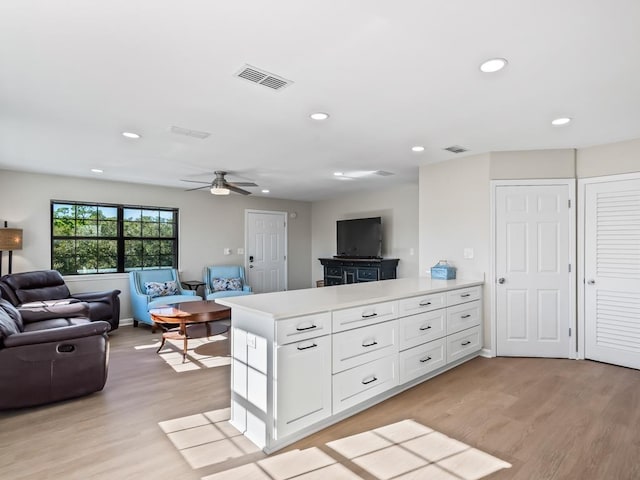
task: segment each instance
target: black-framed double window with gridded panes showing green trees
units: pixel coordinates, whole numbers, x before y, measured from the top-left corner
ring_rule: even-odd
[[[174,208],[51,202],[51,268],[63,275],[178,265]]]

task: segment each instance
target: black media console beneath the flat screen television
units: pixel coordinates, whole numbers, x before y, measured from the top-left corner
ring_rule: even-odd
[[[324,284],[373,282],[396,278],[397,258],[319,258],[324,266]]]

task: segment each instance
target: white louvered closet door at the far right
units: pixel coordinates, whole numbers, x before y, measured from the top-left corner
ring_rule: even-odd
[[[640,368],[640,179],[585,188],[585,357]]]

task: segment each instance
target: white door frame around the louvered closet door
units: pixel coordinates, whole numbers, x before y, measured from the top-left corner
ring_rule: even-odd
[[[636,173],[621,173],[618,175],[604,175],[601,177],[589,177],[589,178],[580,178],[578,179],[578,238],[580,241],[578,242],[578,258],[580,259],[578,264],[578,318],[580,319],[578,323],[578,327],[580,328],[580,332],[582,335],[578,336],[578,357],[581,360],[585,358],[585,336],[584,332],[586,332],[587,327],[587,319],[585,316],[585,290],[584,290],[584,282],[585,282],[585,242],[587,240],[586,237],[586,225],[585,225],[585,215],[587,213],[586,209],[586,200],[587,200],[587,185],[593,185],[596,183],[609,183],[609,182],[623,182],[625,180],[638,180],[640,179],[640,172]]]

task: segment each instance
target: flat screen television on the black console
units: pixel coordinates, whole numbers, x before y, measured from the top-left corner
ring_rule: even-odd
[[[382,218],[336,222],[338,258],[382,258]]]

